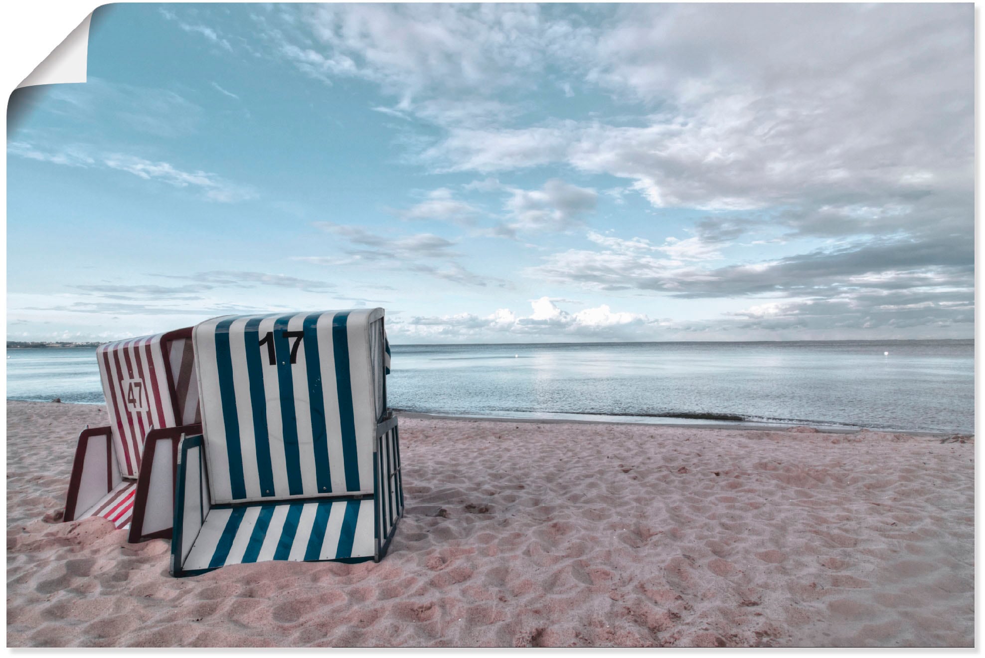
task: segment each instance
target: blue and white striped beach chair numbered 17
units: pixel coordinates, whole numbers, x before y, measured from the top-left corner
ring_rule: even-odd
[[[202,435],[179,450],[171,574],[382,559],[404,509],[383,309],[220,317],[193,342]]]

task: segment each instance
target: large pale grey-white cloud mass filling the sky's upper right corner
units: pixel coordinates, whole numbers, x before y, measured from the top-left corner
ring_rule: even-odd
[[[452,125],[420,159],[569,165],[656,207],[786,207],[779,221],[804,232],[958,217],[967,230],[971,19],[944,5],[621,5],[571,62],[644,116]]]

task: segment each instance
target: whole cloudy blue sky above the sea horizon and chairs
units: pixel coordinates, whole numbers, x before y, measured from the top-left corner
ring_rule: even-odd
[[[114,4],[15,93],[8,339],[971,338],[973,5]]]

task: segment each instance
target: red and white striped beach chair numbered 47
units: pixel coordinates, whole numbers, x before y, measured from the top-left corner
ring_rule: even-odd
[[[131,542],[170,537],[177,446],[201,431],[191,328],[106,343],[96,358],[109,425],[79,435],[63,518],[102,516]]]

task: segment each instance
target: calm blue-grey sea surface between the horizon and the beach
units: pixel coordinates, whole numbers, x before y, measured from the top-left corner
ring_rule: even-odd
[[[971,432],[974,341],[394,345],[391,407]],[[889,354],[884,355],[885,352]],[[7,397],[101,404],[94,349],[10,350]]]

